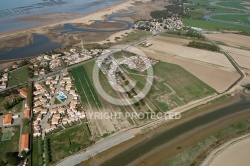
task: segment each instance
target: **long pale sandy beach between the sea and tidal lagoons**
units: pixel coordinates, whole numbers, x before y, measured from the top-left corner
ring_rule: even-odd
[[[129,7],[133,6],[133,3],[135,2],[135,0],[126,0],[125,2],[121,2],[119,4],[114,4],[112,6],[109,6],[107,8],[98,10],[98,11],[93,11],[90,12],[88,14],[79,16],[76,19],[72,19],[72,20],[66,20],[66,21],[54,21],[54,23],[40,23],[36,26],[32,26],[29,28],[24,28],[24,29],[20,29],[20,30],[16,30],[16,31],[12,31],[12,32],[5,32],[5,33],[0,33],[0,38],[3,37],[7,37],[7,36],[13,36],[13,35],[17,35],[20,33],[42,33],[44,32],[44,28],[48,29],[48,28],[52,28],[54,26],[58,26],[61,24],[65,24],[65,23],[84,23],[84,24],[91,24],[92,21],[91,20],[102,20],[105,18],[106,15],[110,15],[112,13],[118,12],[118,11],[122,11],[122,10],[128,10]],[[59,15],[61,15],[62,13],[59,13]],[[49,17],[47,15],[47,17]],[[55,17],[55,14],[52,14],[51,17]],[[74,17],[75,18],[75,17]]]

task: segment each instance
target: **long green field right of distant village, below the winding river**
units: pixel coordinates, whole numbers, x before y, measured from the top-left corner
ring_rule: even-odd
[[[215,21],[205,21],[205,20],[196,20],[196,19],[182,19],[185,26],[193,26],[206,30],[234,30],[234,31],[243,31],[247,34],[250,34],[250,28],[241,27],[237,25],[224,24]]]

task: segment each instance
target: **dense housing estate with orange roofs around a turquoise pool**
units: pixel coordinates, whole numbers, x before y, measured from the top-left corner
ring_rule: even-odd
[[[36,90],[33,92],[33,112],[37,115],[33,121],[34,136],[41,136],[43,131],[48,133],[61,124],[71,124],[85,118],[85,113],[78,110],[79,96],[67,71],[48,77],[44,84],[34,83]],[[52,99],[57,99],[60,103],[53,103]],[[45,117],[46,121],[43,121]]]

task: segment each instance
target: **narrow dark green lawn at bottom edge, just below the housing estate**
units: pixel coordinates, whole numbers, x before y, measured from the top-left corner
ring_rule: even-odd
[[[42,166],[43,158],[42,158],[42,139],[33,139],[32,144],[32,165]]]

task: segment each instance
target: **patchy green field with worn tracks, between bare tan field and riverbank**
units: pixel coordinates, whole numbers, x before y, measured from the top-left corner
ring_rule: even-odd
[[[154,79],[148,97],[162,111],[215,93],[214,89],[178,65],[158,62],[153,69],[157,79]],[[146,82],[145,76],[140,76],[138,72],[132,70],[129,70],[128,75],[136,80],[137,86],[142,89]]]

